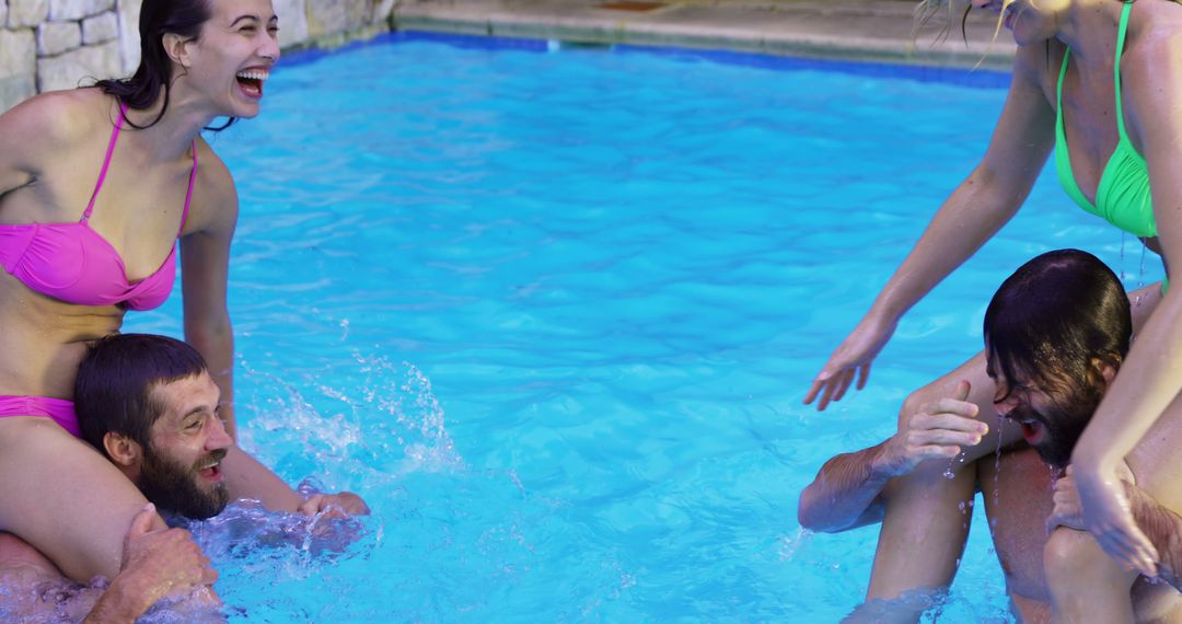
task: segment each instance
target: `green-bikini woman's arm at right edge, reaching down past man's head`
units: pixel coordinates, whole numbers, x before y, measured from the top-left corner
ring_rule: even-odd
[[[1149,33],[1122,63],[1130,134],[1149,165],[1165,266],[1182,266],[1182,33]],[[1087,529],[1118,561],[1152,574],[1157,553],[1130,513],[1116,466],[1182,391],[1182,288],[1162,298],[1072,454]]]

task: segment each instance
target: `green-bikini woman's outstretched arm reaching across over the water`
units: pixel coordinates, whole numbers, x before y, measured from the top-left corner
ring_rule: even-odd
[[[1035,47],[1018,52],[1009,95],[980,164],[944,201],[870,311],[830,357],[805,403],[819,396],[817,409],[824,410],[845,395],[857,372],[862,388],[903,313],[1009,221],[1030,194],[1054,145],[1054,110],[1041,86],[1046,59],[1043,47]]]

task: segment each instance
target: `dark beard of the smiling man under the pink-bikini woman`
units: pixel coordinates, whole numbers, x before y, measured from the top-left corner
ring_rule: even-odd
[[[226,449],[217,449],[197,460],[194,466],[182,466],[180,462],[155,453],[151,444],[144,447],[144,463],[139,469],[136,486],[156,507],[181,514],[195,520],[213,518],[226,508],[229,492],[226,482],[213,483],[212,489],[197,485],[197,467],[210,461],[221,461]]]

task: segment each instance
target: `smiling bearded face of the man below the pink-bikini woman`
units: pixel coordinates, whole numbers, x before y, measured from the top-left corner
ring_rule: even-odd
[[[164,412],[151,427],[136,486],[161,509],[194,519],[217,515],[229,501],[221,461],[233,444],[217,417],[217,385],[202,371],[150,392]]]

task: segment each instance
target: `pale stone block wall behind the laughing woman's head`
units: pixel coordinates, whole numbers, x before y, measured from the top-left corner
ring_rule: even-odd
[[[284,50],[390,28],[398,0],[272,0]],[[41,91],[132,73],[142,0],[0,0],[0,111]]]

